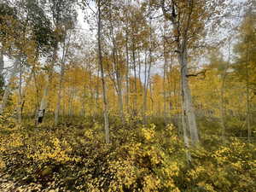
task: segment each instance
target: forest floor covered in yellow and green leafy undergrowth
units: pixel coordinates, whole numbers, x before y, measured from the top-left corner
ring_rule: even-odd
[[[102,119],[45,122],[0,125],[1,192],[256,191],[255,143],[223,143],[209,124],[201,127],[201,145],[188,151],[177,127],[161,119],[112,118],[111,144]]]

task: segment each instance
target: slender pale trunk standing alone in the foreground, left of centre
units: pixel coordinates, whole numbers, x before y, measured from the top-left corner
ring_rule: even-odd
[[[101,2],[98,2],[98,55],[99,55],[99,67],[101,69],[102,77],[102,92],[103,92],[103,105],[104,105],[104,126],[105,126],[105,137],[106,143],[110,143],[109,139],[109,123],[108,123],[108,100],[106,92],[106,82],[104,78],[104,69],[102,63],[102,10]]]

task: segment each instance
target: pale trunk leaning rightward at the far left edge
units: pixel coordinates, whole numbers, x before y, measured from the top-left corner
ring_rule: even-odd
[[[2,103],[0,104],[0,114],[3,113],[3,110],[5,109],[6,104],[8,102],[11,85],[13,84],[13,80],[15,78],[15,74],[18,71],[19,65],[20,65],[20,55],[18,55],[18,57],[15,59],[14,68],[13,68],[13,70],[10,74],[10,78],[9,78],[9,84],[7,84],[7,86],[4,90]]]

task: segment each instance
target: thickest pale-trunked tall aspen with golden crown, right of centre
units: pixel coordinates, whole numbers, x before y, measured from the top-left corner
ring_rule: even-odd
[[[162,12],[166,20],[171,21],[173,27],[172,39],[176,45],[175,52],[181,70],[183,131],[189,130],[193,145],[199,143],[199,133],[189,89],[189,54],[190,50],[195,49],[195,45],[200,43],[201,38],[204,38],[206,26],[219,23],[220,10],[225,6],[226,1],[223,0],[214,1],[214,3],[196,0],[160,0]],[[209,20],[214,22],[211,23]],[[185,137],[187,136],[184,134],[184,139]],[[188,141],[186,143],[188,145]]]

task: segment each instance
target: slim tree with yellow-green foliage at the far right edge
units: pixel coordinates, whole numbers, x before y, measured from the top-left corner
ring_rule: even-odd
[[[251,128],[251,102],[255,95],[256,90],[256,14],[253,12],[255,4],[246,10],[244,19],[242,20],[240,27],[240,42],[235,46],[236,52],[236,73],[239,79],[246,84],[246,96],[247,96],[247,139],[251,140],[252,128]]]

